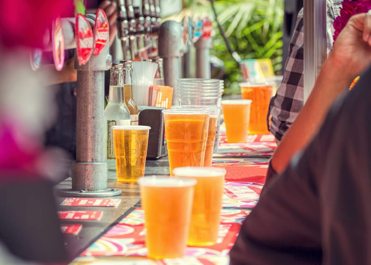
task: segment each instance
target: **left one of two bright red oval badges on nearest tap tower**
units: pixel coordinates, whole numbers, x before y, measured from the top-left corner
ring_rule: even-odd
[[[93,52],[93,31],[89,22],[82,14],[76,15],[75,24],[76,57],[79,65],[88,62]]]

